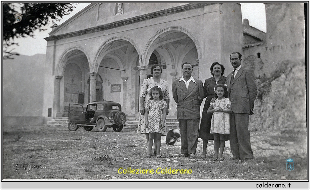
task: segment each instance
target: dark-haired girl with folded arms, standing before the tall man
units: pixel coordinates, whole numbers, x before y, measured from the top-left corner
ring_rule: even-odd
[[[210,102],[210,107],[207,113],[213,113],[211,119],[211,131],[214,136],[214,157],[213,161],[223,161],[223,151],[225,147],[224,134],[229,134],[229,114],[232,112],[230,109],[230,101],[224,98],[227,92],[226,84],[217,84],[214,87],[217,98]]]

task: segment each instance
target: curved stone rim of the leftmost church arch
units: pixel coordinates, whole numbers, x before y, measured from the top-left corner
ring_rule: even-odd
[[[88,67],[91,68],[91,60],[90,60],[90,57],[89,57],[88,53],[86,52],[86,50],[81,46],[74,46],[74,47],[70,47],[67,50],[65,50],[63,52],[63,54],[61,55],[59,62],[56,66],[55,75],[61,76],[64,74],[64,67],[67,64],[65,60],[68,58],[69,52],[74,51],[74,50],[79,50],[79,51],[84,53],[84,55],[86,56],[87,61],[88,61]]]

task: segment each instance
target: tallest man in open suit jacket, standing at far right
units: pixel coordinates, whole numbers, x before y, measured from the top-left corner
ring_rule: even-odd
[[[257,95],[254,71],[241,66],[241,53],[233,52],[229,56],[234,70],[228,74],[226,84],[231,102],[230,115],[230,149],[232,159],[252,161],[249,132],[249,114],[253,114],[254,100]]]

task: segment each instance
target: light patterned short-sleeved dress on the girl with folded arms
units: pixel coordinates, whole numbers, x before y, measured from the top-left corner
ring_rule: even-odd
[[[216,98],[214,102],[211,101],[210,106],[213,109],[221,107],[224,110],[228,110],[230,101],[225,97],[222,100]],[[229,113],[213,112],[210,133],[229,134]]]

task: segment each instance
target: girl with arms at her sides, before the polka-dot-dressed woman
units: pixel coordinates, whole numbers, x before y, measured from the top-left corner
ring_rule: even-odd
[[[161,142],[161,133],[164,133],[164,126],[166,120],[166,107],[167,103],[163,100],[164,95],[162,90],[154,86],[151,88],[150,100],[145,105],[145,124],[148,128],[148,153],[146,157],[151,157],[153,139],[156,138],[157,154],[156,157],[160,158],[160,146]]]

